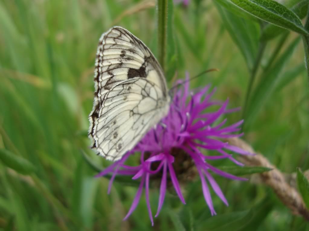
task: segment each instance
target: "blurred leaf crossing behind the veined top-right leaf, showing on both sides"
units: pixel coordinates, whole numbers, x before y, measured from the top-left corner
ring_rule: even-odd
[[[300,19],[303,19],[307,14],[308,9],[308,0],[301,0],[297,2],[294,6],[290,8]],[[277,27],[274,24],[268,24],[264,27],[261,40],[269,40],[275,38],[277,35],[280,35],[286,31],[282,27]]]

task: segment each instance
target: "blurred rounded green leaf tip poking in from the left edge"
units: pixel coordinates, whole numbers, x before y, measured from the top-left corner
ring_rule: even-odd
[[[0,149],[0,159],[7,166],[15,171],[28,175],[36,170],[36,167],[21,156],[15,155],[6,149]]]

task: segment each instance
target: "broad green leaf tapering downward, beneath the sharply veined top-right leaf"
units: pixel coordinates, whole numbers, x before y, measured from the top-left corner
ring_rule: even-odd
[[[222,17],[224,26],[243,54],[248,69],[250,70],[253,67],[257,53],[259,25],[231,14],[216,3],[215,5]]]

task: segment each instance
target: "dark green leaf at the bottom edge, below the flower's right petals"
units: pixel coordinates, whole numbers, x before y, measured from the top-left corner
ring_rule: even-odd
[[[197,224],[197,230],[236,231],[241,229],[244,225],[248,224],[252,217],[253,213],[251,210],[217,215]]]

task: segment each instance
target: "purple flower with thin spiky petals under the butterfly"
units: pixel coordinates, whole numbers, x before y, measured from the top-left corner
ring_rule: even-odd
[[[188,74],[186,79],[188,80]],[[181,81],[177,83],[181,83]],[[210,88],[209,85],[200,89],[197,93],[190,92],[188,81],[184,82],[182,86],[183,88],[175,90],[167,116],[155,128],[150,130],[132,151],[127,152],[122,159],[116,161],[97,175],[103,176],[112,173],[108,193],[117,174],[133,175],[133,180],[140,179],[136,196],[124,220],[131,215],[138,205],[143,188],[145,188],[146,204],[150,221],[153,225],[149,202],[150,179],[157,180],[159,178],[161,180],[159,204],[155,217],[159,215],[162,208],[168,184],[174,187],[179,199],[185,204],[180,190],[179,178],[186,171],[195,172],[196,175],[200,176],[203,195],[212,215],[215,215],[216,212],[206,179],[224,204],[228,205],[228,203],[209,171],[230,179],[246,180],[245,178],[221,171],[209,163],[211,160],[227,158],[237,165],[243,165],[234,159],[231,154],[228,154],[226,150],[234,151],[241,155],[252,155],[238,147],[229,145],[227,142],[221,141],[221,139],[225,138],[242,136],[242,133],[233,133],[240,130],[239,126],[243,121],[224,127],[226,124],[226,119],[224,119],[222,122],[214,125],[214,122],[220,116],[237,111],[239,108],[227,109],[228,100],[225,102],[211,100],[215,89],[207,93]],[[217,106],[219,109],[205,112],[205,109],[209,109],[211,106]],[[205,155],[205,153],[202,153],[205,149],[217,151],[218,154]],[[135,152],[141,153],[140,164],[137,166],[125,165],[126,159]],[[188,175],[187,178],[190,177],[190,174]]]

